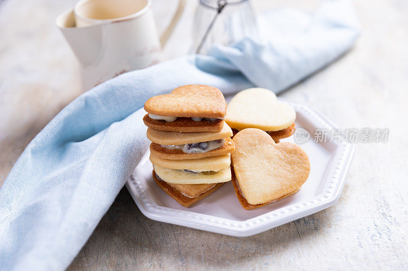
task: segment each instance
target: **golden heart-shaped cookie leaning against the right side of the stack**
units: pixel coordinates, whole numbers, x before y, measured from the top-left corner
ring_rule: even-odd
[[[309,158],[298,145],[275,143],[267,133],[253,128],[240,131],[233,140],[232,165],[247,203],[256,205],[284,198],[307,180]]]

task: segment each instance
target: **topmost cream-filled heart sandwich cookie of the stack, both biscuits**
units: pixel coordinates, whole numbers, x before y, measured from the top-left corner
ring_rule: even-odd
[[[144,124],[152,129],[177,132],[217,132],[223,128],[226,102],[221,91],[209,85],[184,85],[170,94],[151,97],[144,104]]]

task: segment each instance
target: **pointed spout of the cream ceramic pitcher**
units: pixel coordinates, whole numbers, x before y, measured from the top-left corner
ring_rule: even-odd
[[[56,24],[82,66],[98,62],[103,46],[103,25],[77,27],[73,9],[61,13]]]

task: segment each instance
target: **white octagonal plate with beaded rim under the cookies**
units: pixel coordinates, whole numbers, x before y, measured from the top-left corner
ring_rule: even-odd
[[[308,105],[285,102],[296,110],[296,127],[304,128],[312,135],[309,141],[300,145],[309,156],[311,172],[299,192],[254,210],[245,210],[238,202],[232,183],[228,182],[207,198],[185,208],[156,185],[147,151],[126,182],[141,212],[152,220],[233,236],[249,236],[335,204],[344,187],[354,146],[336,140],[330,142],[330,136],[325,143],[314,142],[315,129],[336,127]],[[282,141],[294,142],[294,137]]]

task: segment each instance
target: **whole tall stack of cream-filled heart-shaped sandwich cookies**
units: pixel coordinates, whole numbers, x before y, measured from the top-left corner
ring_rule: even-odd
[[[185,207],[231,180],[235,146],[226,107],[220,90],[208,85],[180,86],[144,105],[154,180]]]

